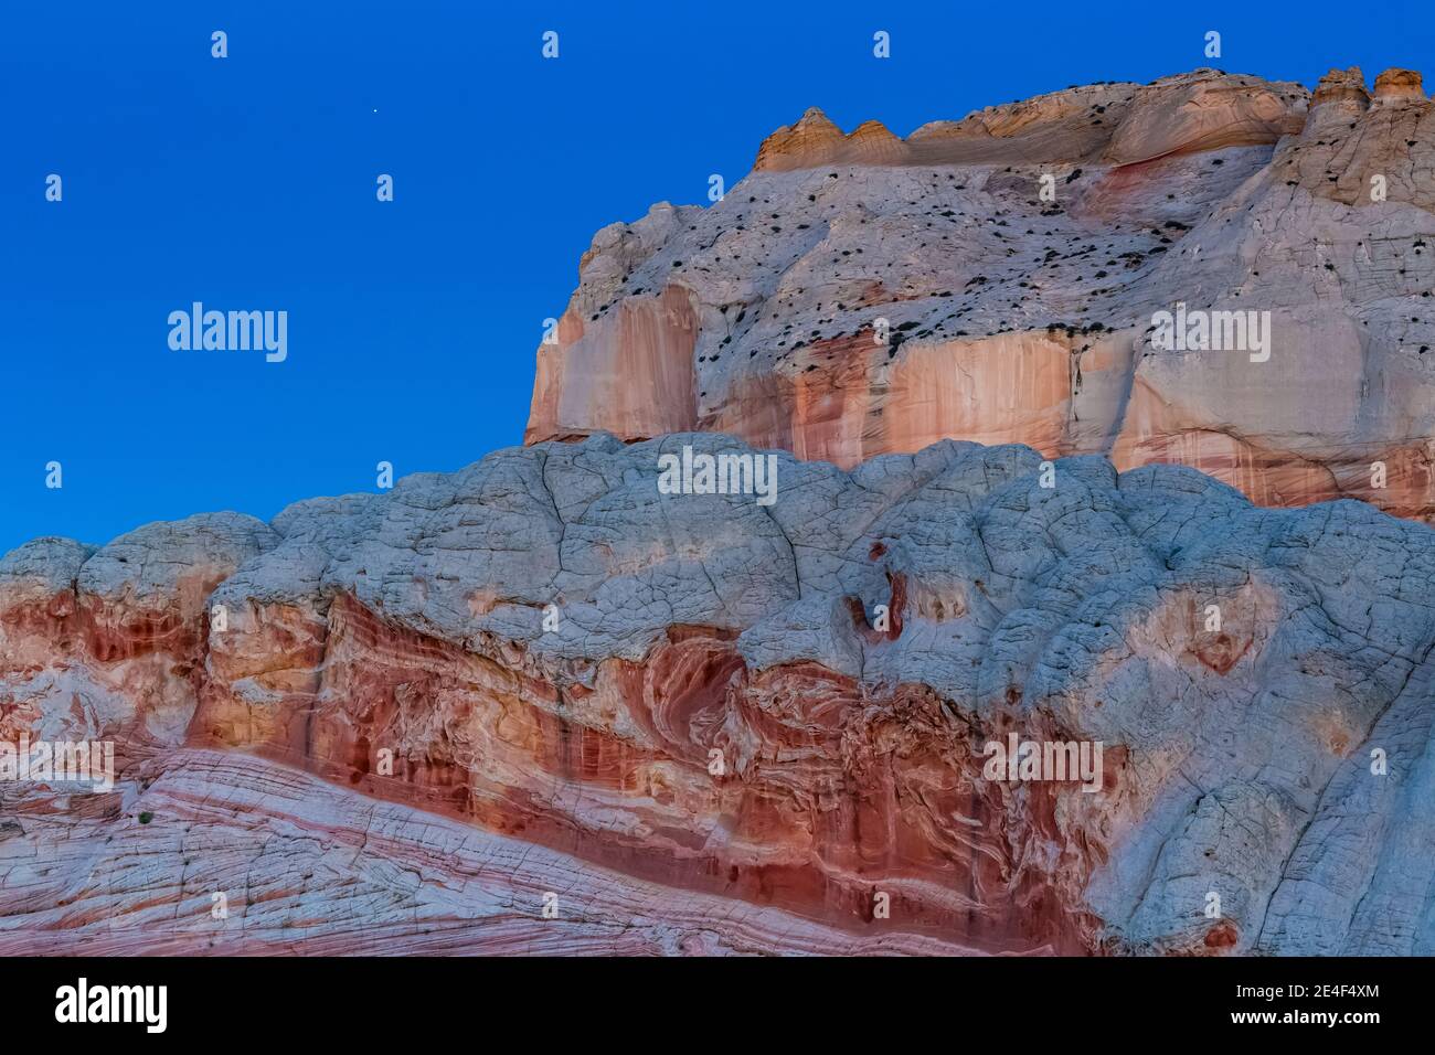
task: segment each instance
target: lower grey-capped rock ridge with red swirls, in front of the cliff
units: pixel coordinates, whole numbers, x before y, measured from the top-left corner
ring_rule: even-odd
[[[1435,952],[1431,528],[951,441],[667,494],[684,446],[755,454],[9,554],[0,732],[119,775],[0,782],[0,952]]]

